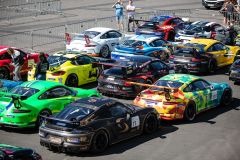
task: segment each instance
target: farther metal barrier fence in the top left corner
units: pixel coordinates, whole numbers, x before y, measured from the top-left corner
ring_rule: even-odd
[[[0,7],[0,20],[10,23],[10,19],[30,17],[36,19],[40,14],[61,14],[61,1],[45,1]]]

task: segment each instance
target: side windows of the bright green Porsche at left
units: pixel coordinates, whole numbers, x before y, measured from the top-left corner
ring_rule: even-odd
[[[72,95],[72,91],[65,87],[56,87],[44,92],[39,96],[39,99],[52,99]]]

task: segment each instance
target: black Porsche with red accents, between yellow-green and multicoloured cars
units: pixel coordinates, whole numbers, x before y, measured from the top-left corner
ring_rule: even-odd
[[[105,65],[113,66],[113,68],[101,73],[98,78],[97,90],[103,94],[123,97],[136,97],[144,89],[144,87],[126,85],[125,82],[153,84],[169,73],[189,73],[184,65],[168,65],[157,58],[144,56],[132,56],[118,64],[99,63],[98,65],[100,68]]]

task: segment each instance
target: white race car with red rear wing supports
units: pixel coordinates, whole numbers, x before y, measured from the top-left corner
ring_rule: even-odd
[[[68,51],[81,51],[91,56],[104,58],[110,56],[117,44],[123,44],[126,39],[132,37],[132,35],[125,35],[115,29],[104,27],[88,29],[82,34],[77,34],[78,36],[72,40],[68,33],[66,35],[69,41],[66,45]]]

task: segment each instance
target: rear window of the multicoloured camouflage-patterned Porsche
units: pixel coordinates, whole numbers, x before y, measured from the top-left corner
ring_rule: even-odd
[[[183,85],[184,83],[182,82],[177,82],[177,81],[170,81],[170,80],[159,80],[157,81],[154,86],[162,86],[162,87],[169,87],[169,88],[179,88]],[[164,91],[163,88],[155,88],[151,87],[150,89],[152,90],[158,90],[158,91]],[[173,90],[170,90],[170,92],[173,92]]]

